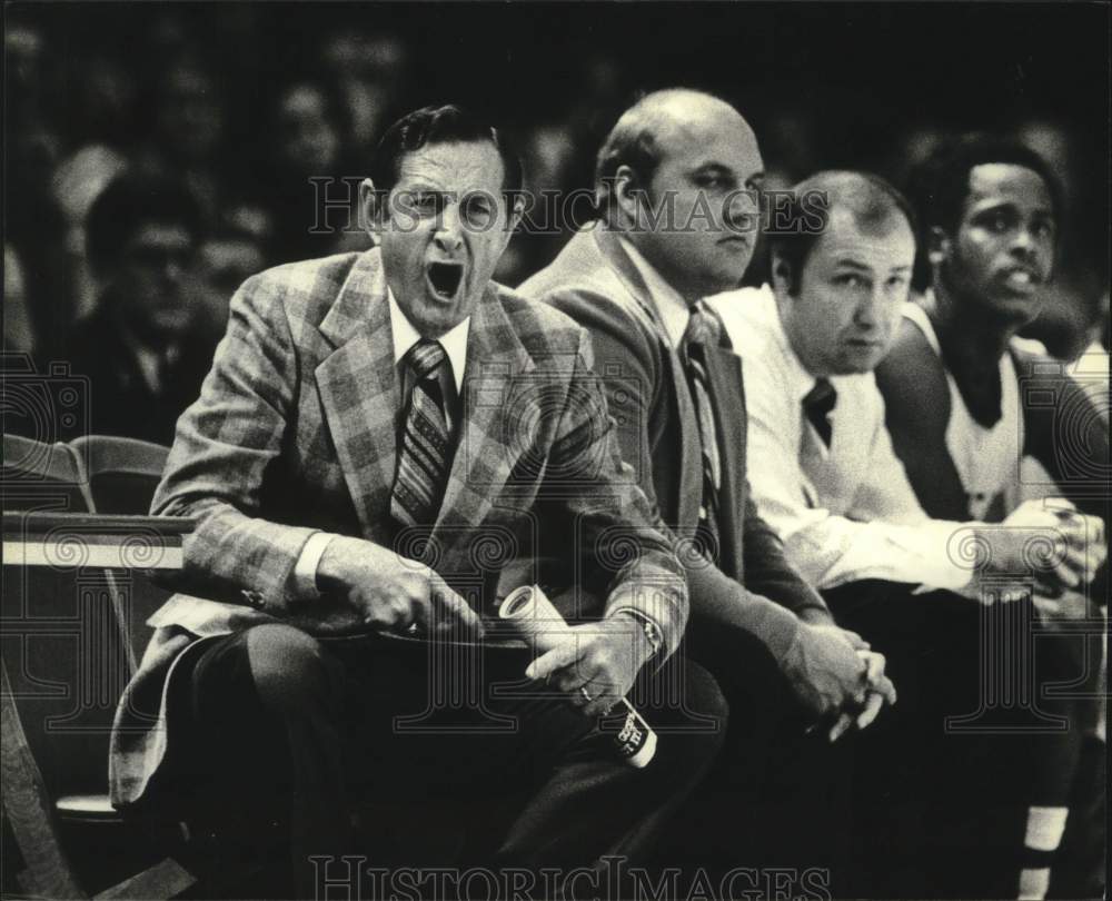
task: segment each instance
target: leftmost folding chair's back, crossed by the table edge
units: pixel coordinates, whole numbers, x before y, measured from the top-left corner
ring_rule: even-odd
[[[130,675],[112,574],[83,565],[81,529],[57,525],[51,565],[20,565],[38,526],[27,513],[91,512],[78,457],[62,444],[4,436],[0,656],[51,799],[107,788],[108,736]]]

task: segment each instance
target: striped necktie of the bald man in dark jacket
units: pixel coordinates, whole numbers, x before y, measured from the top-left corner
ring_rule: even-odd
[[[702,300],[695,301],[684,333],[684,365],[687,383],[695,402],[699,444],[703,446],[703,498],[699,505],[699,544],[711,558],[718,555],[718,492],[722,488],[722,459],[718,454],[718,430],[711,406],[707,377],[707,348],[723,346],[723,329],[718,317]]]

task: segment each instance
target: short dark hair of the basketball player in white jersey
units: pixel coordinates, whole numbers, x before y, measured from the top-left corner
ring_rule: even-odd
[[[909,194],[919,211],[924,239],[935,227],[954,232],[969,196],[970,172],[991,162],[1031,169],[1046,185],[1054,217],[1061,220],[1062,187],[1046,160],[1019,141],[973,132],[943,143],[912,174]]]

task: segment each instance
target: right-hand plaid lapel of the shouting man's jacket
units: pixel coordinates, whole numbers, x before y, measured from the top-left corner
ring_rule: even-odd
[[[463,423],[444,503],[433,527],[434,539],[450,542],[450,533],[487,518],[525,449],[514,440],[519,437],[520,424],[514,422],[512,397],[517,376],[532,372],[535,365],[488,285],[467,335]]]

